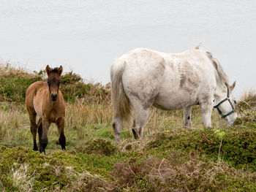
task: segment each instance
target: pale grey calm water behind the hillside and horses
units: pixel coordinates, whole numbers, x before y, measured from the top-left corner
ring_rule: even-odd
[[[137,47],[179,53],[203,42],[256,89],[256,1],[0,0],[0,59],[32,70],[64,66],[109,82],[110,65]]]

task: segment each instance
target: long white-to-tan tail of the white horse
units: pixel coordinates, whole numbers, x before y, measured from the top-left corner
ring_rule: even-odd
[[[122,76],[126,61],[122,58],[116,59],[111,66],[111,97],[113,103],[113,118],[120,117],[122,120],[129,120],[131,116],[131,104],[124,93]]]

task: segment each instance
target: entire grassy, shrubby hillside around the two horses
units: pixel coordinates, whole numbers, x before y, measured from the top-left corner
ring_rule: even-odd
[[[233,127],[213,112],[203,128],[193,107],[192,128],[182,112],[151,109],[140,141],[127,125],[114,142],[110,85],[61,77],[67,104],[67,150],[50,126],[46,155],[32,150],[26,88],[44,72],[0,67],[0,191],[256,191],[256,95],[237,104]]]

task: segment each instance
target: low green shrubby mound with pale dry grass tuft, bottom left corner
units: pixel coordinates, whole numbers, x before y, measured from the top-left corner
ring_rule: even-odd
[[[46,156],[26,147],[0,147],[0,190],[97,191],[110,187],[86,168],[80,158],[64,152]]]

